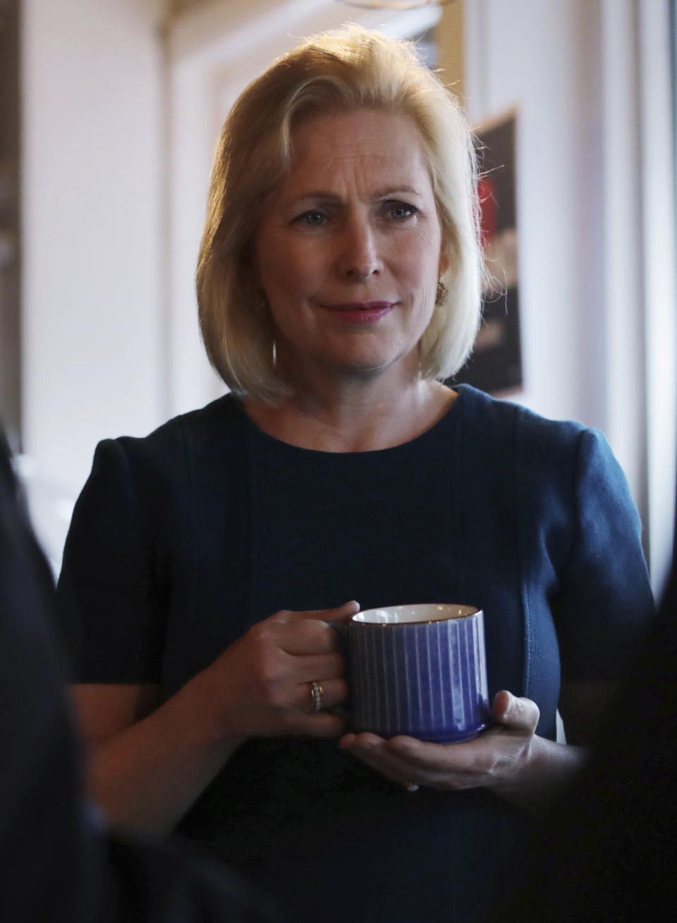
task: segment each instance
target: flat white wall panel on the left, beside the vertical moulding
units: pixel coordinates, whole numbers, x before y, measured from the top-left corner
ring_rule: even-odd
[[[23,445],[77,494],[163,419],[162,60],[151,3],[23,3]]]

